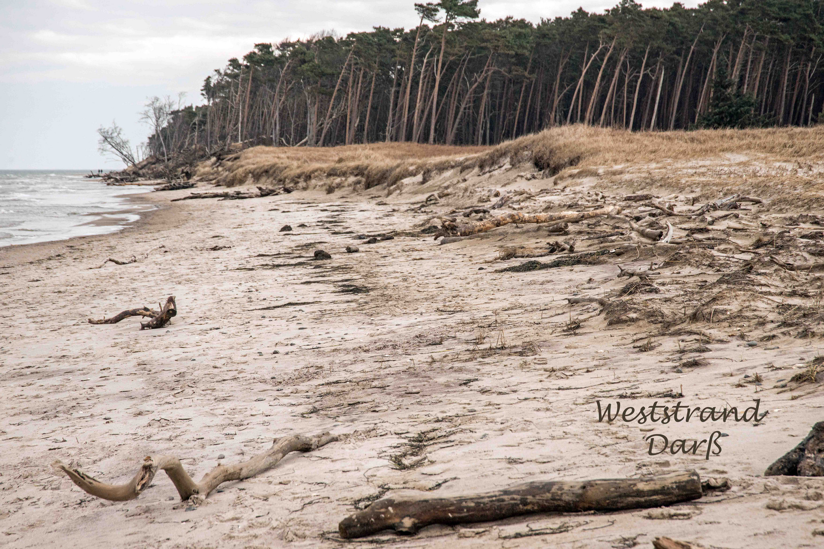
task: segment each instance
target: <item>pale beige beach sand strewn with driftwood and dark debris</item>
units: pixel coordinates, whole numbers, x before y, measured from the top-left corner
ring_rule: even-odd
[[[518,181],[512,188],[527,186]],[[669,509],[436,525],[354,545],[821,543],[813,532],[824,528],[824,479],[761,476],[824,418],[820,390],[794,399],[806,389],[766,390],[817,356],[819,340],[781,337],[767,350],[714,339],[701,354],[707,365],[679,373],[672,356],[695,335],[658,338],[644,352],[648,339],[636,340],[645,323],[607,325],[597,304],[566,305],[576,292],[624,286],[614,264],[495,272],[525,261],[495,261],[501,245],[539,246],[545,232],[507,226],[448,245],[426,235],[355,238],[412,230],[427,214],[411,204],[429,190],[183,202],[169,200],[189,191],[153,193],[159,209],[117,234],[0,249],[0,547],[346,547],[339,520],[386,494],[683,469],[728,477],[733,489]],[[279,232],[285,224],[293,231]],[[345,253],[349,244],[360,252]],[[314,261],[315,249],[332,258]],[[138,263],[95,268],[132,255]],[[649,263],[632,257],[624,268]],[[167,295],[179,309],[167,328],[87,323]],[[564,331],[572,320],[581,327]],[[763,384],[747,383],[756,371]],[[598,400],[743,410],[756,398],[770,412],[760,422],[597,416]],[[197,508],[174,509],[162,473],[137,500],[115,503],[49,468],[61,459],[123,482],[143,456],[175,454],[199,477],[273,437],[324,430],[341,440],[227,483]],[[722,451],[709,459],[650,456],[644,441],[714,430]]]

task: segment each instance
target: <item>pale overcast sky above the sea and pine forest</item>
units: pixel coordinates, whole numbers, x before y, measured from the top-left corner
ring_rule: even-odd
[[[617,0],[480,0],[481,16],[530,21],[600,12]],[[666,7],[667,0],[646,0]],[[682,2],[694,7],[698,0]],[[345,35],[417,24],[414,0],[0,0],[0,170],[116,168],[96,128],[116,120],[133,144],[152,95],[185,91],[255,43],[319,30]]]

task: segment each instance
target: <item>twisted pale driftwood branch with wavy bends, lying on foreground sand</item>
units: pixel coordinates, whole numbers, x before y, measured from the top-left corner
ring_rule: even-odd
[[[315,436],[293,435],[275,439],[272,447],[265,453],[258,454],[243,463],[218,465],[206,473],[200,482],[194,482],[192,477],[185,472],[180,459],[169,455],[147,456],[143,459],[143,465],[138,473],[125,484],[105,484],[78,469],[68,468],[59,460],[52,463],[52,467],[57,471],[65,472],[72,482],[80,486],[87,494],[104,500],[133,500],[152,484],[152,479],[159,469],[166,471],[177,488],[177,493],[180,494],[180,500],[189,500],[193,495],[205,499],[223,482],[242,481],[254,477],[273,468],[283,459],[283,456],[290,452],[311,452],[335,440],[338,440],[337,435],[329,433]]]

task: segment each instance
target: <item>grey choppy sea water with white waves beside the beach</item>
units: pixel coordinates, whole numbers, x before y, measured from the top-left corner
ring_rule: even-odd
[[[127,198],[151,187],[109,186],[83,174],[0,170],[0,246],[105,235],[151,209]]]

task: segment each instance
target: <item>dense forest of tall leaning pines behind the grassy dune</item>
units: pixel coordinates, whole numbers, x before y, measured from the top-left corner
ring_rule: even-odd
[[[537,24],[485,21],[477,0],[414,4],[410,30],[255,44],[205,79],[203,105],[166,100],[148,147],[493,145],[572,123],[808,125],[824,105],[822,3],[622,0]]]

